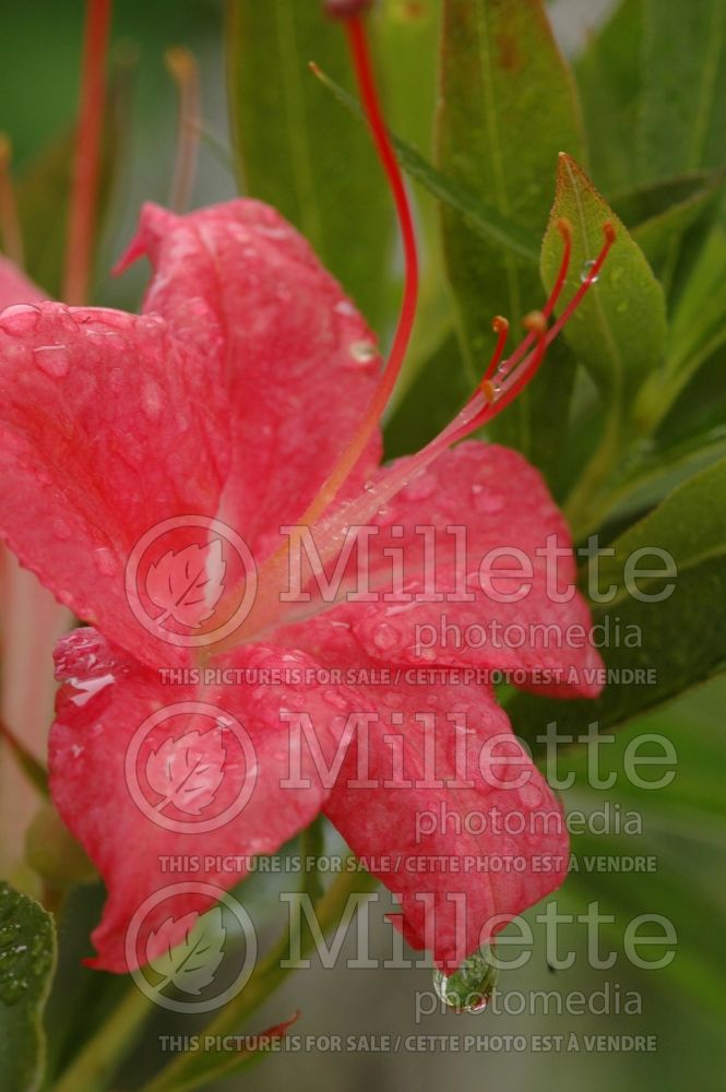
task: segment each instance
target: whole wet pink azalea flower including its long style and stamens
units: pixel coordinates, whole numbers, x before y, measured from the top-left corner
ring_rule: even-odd
[[[349,31],[365,88],[359,24]],[[413,271],[403,186],[368,99]],[[560,276],[522,346],[501,363],[507,324],[496,320],[497,353],[472,399],[392,467],[380,466],[378,425],[413,320],[415,277],[381,375],[350,300],[258,202],[188,216],[146,206],[127,259],[145,253],[154,270],[139,317],[55,302],[0,317],[0,530],[91,624],[58,645],[50,784],[108,889],[93,965],[124,972],[183,937],[189,915],[213,901],[209,891],[188,890],[175,921],[152,904],[170,880],[200,879],[194,859],[207,883],[228,888],[249,863],[230,870],[225,857],[274,853],[321,810],[391,887],[408,941],[444,970],[562,880],[560,806],[474,673],[516,668],[522,685],[594,696],[595,651],[546,636],[586,629],[588,613],[574,592],[552,595],[548,551],[559,551],[561,583],[573,584],[574,560],[537,471],[513,451],[457,442],[516,396],[597,277],[609,232],[548,329],[570,257],[569,226],[561,230]],[[152,547],[146,568],[130,575],[143,544],[170,521],[179,531],[171,548]],[[288,525],[310,530],[317,568],[305,560],[304,533],[281,532]],[[239,549],[223,557],[219,527],[257,565],[240,625],[236,604],[253,585]],[[357,598],[347,595],[349,527],[370,532],[370,589]],[[511,594],[501,553],[489,583],[480,580],[483,558],[502,548],[528,561],[526,594]],[[298,562],[304,592],[337,566],[332,603],[316,591],[287,602]],[[179,573],[195,594],[176,595]],[[216,617],[226,619],[217,636]],[[442,634],[444,624],[516,625],[523,639],[451,648],[439,638],[422,649],[421,627]],[[418,674],[432,667],[433,678]],[[178,711],[170,734],[169,710]],[[247,750],[235,749],[240,739]],[[133,787],[139,770],[157,800],[151,814]],[[205,820],[212,804],[224,822]],[[502,833],[495,812],[519,823]],[[489,822],[473,829],[472,815]],[[520,867],[481,867],[495,857]],[[171,877],[170,858],[181,863]],[[130,923],[147,903],[144,942],[130,950]]]

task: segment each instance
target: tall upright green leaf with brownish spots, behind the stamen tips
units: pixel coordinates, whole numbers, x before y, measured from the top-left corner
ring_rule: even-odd
[[[454,185],[508,221],[540,236],[550,178],[564,146],[582,152],[574,82],[538,0],[444,0],[438,115],[438,165]],[[472,376],[493,346],[491,320],[513,331],[541,302],[536,264],[493,239],[475,236],[442,209],[449,280],[461,316]],[[570,383],[563,349],[492,431],[546,470],[558,460]],[[557,423],[552,427],[552,423]]]

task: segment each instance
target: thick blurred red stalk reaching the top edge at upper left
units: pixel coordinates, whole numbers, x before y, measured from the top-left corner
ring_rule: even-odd
[[[63,298],[84,304],[88,292],[100,179],[100,139],[106,98],[106,50],[112,0],[87,0],[81,106],[69,211]]]

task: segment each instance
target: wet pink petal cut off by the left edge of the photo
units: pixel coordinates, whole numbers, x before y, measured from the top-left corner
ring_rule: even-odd
[[[159,318],[60,304],[0,317],[1,534],[75,614],[147,663],[124,567],[159,521],[214,515],[226,473],[224,400],[204,358]]]

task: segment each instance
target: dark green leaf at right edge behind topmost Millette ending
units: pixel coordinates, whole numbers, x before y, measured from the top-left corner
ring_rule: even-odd
[[[533,739],[548,721],[564,731],[591,721],[600,726],[624,724],[656,709],[682,691],[719,674],[726,662],[726,459],[676,488],[614,544],[615,554],[600,558],[598,589],[615,593],[593,605],[595,633],[608,634],[602,650],[611,681],[596,701],[557,702],[517,696],[508,711],[517,733]],[[640,598],[624,580],[626,562],[644,550],[641,570],[662,575],[640,577]],[[653,557],[653,549],[667,551]],[[651,553],[648,553],[651,551]],[[663,574],[667,555],[677,575]],[[632,573],[631,573],[632,579]],[[673,585],[673,591],[669,587]],[[643,601],[643,596],[650,600]],[[660,596],[659,600],[653,596]],[[665,596],[665,597],[664,597]],[[652,676],[622,672],[645,670]],[[630,681],[628,681],[630,679]]]

